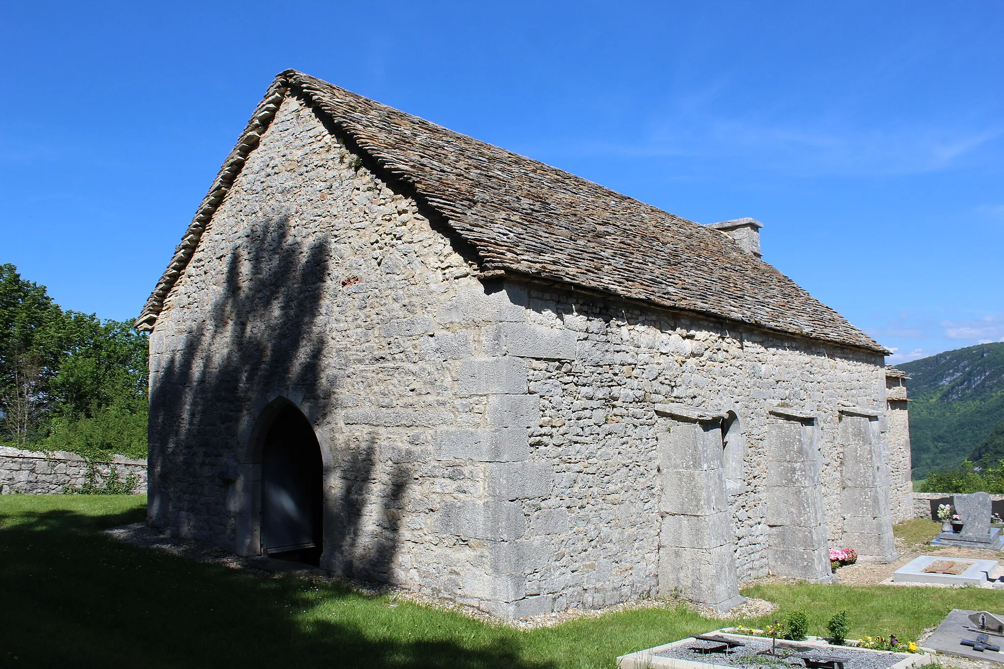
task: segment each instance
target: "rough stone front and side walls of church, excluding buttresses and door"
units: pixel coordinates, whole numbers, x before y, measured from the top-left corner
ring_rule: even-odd
[[[283,103],[151,337],[153,525],[238,545],[283,396],[322,447],[322,566],[505,617],[656,594],[662,402],[738,417],[740,580],[767,570],[771,405],[816,417],[828,539],[855,530],[837,425],[849,403],[885,434],[881,356],[482,284],[437,230]]]

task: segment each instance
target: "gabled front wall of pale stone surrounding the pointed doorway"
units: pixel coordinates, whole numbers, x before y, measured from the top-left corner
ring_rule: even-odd
[[[519,505],[481,500],[528,455],[527,365],[513,358],[512,387],[491,397],[478,363],[457,377],[479,323],[525,318],[505,298],[287,98],[151,336],[150,523],[256,550],[255,423],[286,397],[322,447],[323,566],[474,604],[520,599],[488,576],[491,560],[519,559],[491,550],[522,534],[506,525]],[[486,411],[497,426],[480,429]]]

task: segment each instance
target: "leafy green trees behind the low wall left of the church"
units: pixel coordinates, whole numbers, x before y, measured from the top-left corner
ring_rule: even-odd
[[[0,445],[147,455],[147,337],[0,265]]]

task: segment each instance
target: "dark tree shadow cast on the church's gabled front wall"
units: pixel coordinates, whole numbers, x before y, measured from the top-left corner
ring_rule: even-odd
[[[184,340],[176,347],[179,352],[161,364],[151,391],[153,523],[230,547],[234,529],[225,526],[230,490],[219,472],[228,458],[240,459],[239,423],[256,420],[251,414],[262,398],[279,393],[308,405],[305,413],[316,430],[341,407],[347,367],[325,351],[325,342],[336,336],[322,324],[332,301],[327,287],[338,286],[327,240],[298,238],[286,215],[263,215],[248,230],[226,260],[206,310],[212,322],[185,323],[187,331],[176,333],[165,314],[159,324],[168,330],[164,334]],[[212,284],[211,273],[206,280]],[[208,288],[203,292],[209,294]],[[371,436],[363,444],[327,442],[345,483],[334,491],[335,499],[331,490],[326,492],[326,504],[334,505],[335,527],[325,530],[325,541],[335,544],[337,571],[385,582],[397,551],[392,510],[401,507],[411,474],[401,465],[379,471]],[[375,538],[362,536],[372,525],[365,514],[376,519],[381,532]],[[387,518],[389,524],[380,520]]]

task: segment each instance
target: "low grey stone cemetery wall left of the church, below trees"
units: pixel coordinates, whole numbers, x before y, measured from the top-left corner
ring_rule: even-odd
[[[112,467],[117,483],[111,476]],[[43,452],[0,446],[0,494],[58,494],[64,487],[112,488],[130,483],[132,492],[147,491],[147,460],[115,455],[108,461],[88,463],[64,450]],[[124,491],[124,490],[123,490]]]

